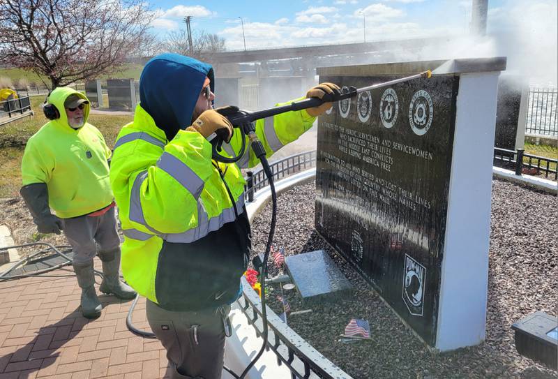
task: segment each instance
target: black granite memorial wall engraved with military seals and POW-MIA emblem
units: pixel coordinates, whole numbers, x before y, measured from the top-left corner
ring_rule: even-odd
[[[402,76],[320,75],[319,82],[359,88]],[[363,92],[318,124],[315,228],[430,345],[459,80]]]

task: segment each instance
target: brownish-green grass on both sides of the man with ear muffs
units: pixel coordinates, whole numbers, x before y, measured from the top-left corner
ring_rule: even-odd
[[[21,161],[25,144],[48,120],[40,109],[44,96],[33,96],[31,106],[35,115],[0,127],[0,198],[16,196],[22,185]],[[116,135],[128,122],[130,114],[90,114],[89,123],[96,126],[105,136],[109,147],[114,146]]]

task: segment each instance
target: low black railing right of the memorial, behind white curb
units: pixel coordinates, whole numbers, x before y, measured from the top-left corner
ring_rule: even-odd
[[[508,150],[495,147],[494,165],[513,170],[516,175],[544,175],[546,179],[558,180],[558,159],[526,154],[524,149]]]

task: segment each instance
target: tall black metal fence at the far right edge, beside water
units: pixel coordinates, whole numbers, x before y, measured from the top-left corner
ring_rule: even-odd
[[[557,87],[531,87],[525,133],[558,136]]]

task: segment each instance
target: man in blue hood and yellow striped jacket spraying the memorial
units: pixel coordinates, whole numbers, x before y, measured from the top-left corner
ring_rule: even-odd
[[[213,110],[213,68],[178,54],[149,61],[140,78],[141,103],[114,147],[110,182],[123,234],[122,271],[147,297],[151,329],[167,349],[172,378],[220,378],[224,319],[240,294],[250,253],[241,167],[212,161],[214,132],[238,152],[239,133]],[[339,88],[320,84],[307,96]],[[331,103],[259,120],[267,155],[296,140]]]

